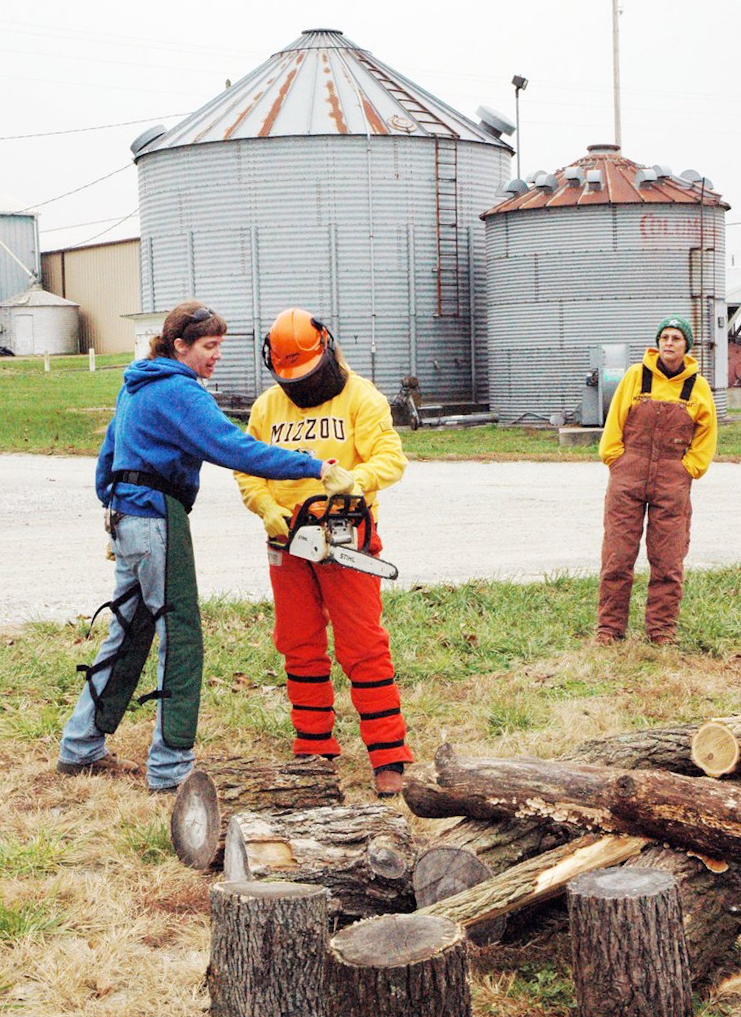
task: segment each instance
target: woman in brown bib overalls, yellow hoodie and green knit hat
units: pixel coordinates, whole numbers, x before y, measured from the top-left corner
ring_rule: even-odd
[[[601,645],[625,635],[646,511],[645,632],[652,643],[674,642],[689,548],[690,487],[716,453],[716,407],[697,361],[688,355],[691,325],[678,315],[665,318],[656,338],[658,349],[650,347],[620,381],[600,441],[600,457],[610,468],[600,573]]]

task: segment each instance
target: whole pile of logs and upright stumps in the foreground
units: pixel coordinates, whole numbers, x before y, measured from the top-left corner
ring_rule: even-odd
[[[227,880],[212,895],[212,915],[237,944],[214,930],[214,1012],[253,1012],[231,986],[228,958],[242,951],[233,913],[248,915],[258,939],[271,936],[270,922],[262,924],[267,900],[275,909],[321,899],[325,917],[311,921],[341,930],[321,941],[322,1002],[307,1004],[316,1013],[417,1012],[419,990],[427,1012],[442,1017],[469,1012],[460,972],[472,956],[496,967],[507,938],[546,912],[550,933],[567,946],[568,897],[581,1013],[618,1012],[595,1009],[604,993],[590,958],[624,942],[603,958],[608,980],[623,983],[655,945],[672,944],[664,953],[656,946],[642,965],[658,980],[636,984],[649,1009],[635,1014],[688,1014],[690,978],[712,974],[741,933],[739,740],[741,718],[728,717],[593,740],[560,760],[474,759],[444,744],[433,766],[405,777],[411,811],[444,821],[439,835],[418,843],[398,810],[344,805],[325,761],[251,765],[249,779],[235,761],[213,765],[179,795],[173,839],[177,831],[186,863],[223,868]],[[265,899],[262,886],[273,888]],[[631,939],[633,924],[647,931],[643,945]],[[307,953],[306,964],[316,963]],[[443,983],[454,991],[433,1001],[427,986]],[[277,1013],[283,1003],[270,1006]]]

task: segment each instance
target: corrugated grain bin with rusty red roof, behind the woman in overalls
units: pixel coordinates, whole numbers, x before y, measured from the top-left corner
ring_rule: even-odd
[[[513,180],[486,223],[489,395],[505,423],[577,419],[595,347],[639,360],[667,314],[726,411],[725,212],[694,171],[642,167],[614,144]],[[704,254],[701,256],[700,252]]]

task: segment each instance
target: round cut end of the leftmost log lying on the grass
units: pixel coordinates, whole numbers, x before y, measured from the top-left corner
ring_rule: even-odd
[[[175,853],[191,869],[210,869],[220,853],[221,830],[213,781],[202,771],[194,770],[180,785],[170,821]]]

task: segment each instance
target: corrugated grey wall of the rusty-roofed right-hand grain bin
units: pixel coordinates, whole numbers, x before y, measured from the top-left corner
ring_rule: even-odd
[[[490,401],[503,422],[546,422],[553,413],[575,410],[594,343],[626,342],[635,361],[669,313],[685,315],[697,332],[689,278],[689,248],[699,243],[695,219],[698,210],[685,205],[488,218]],[[706,244],[716,244],[716,285],[722,287],[722,212],[705,210],[704,232]],[[707,353],[704,359],[713,384]],[[722,402],[717,394],[719,410]]]

